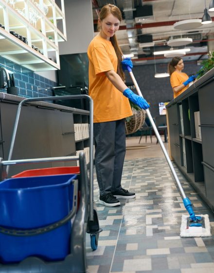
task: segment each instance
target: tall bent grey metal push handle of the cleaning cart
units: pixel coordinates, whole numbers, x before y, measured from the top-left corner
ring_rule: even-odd
[[[23,104],[32,101],[44,101],[44,100],[61,100],[61,99],[78,99],[85,98],[89,100],[89,220],[93,221],[93,100],[88,95],[68,95],[68,96],[53,96],[53,97],[40,97],[40,98],[25,98],[18,104],[17,117],[14,124],[14,130],[11,140],[11,146],[9,150],[8,161],[11,160],[13,154],[13,148],[18,128],[18,120],[20,117],[21,107]],[[80,112],[79,109],[73,108],[73,112]],[[82,112],[84,112],[82,110]],[[9,165],[6,167],[8,173]]]

